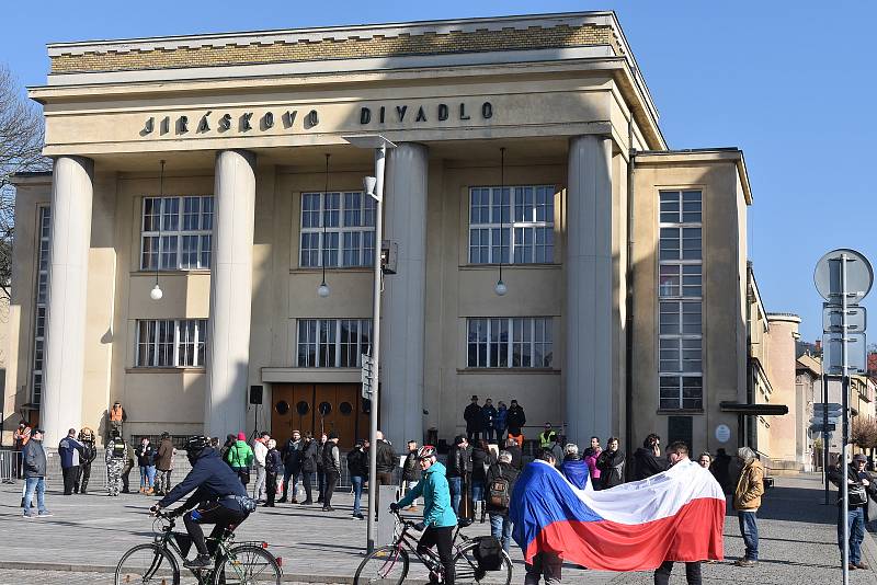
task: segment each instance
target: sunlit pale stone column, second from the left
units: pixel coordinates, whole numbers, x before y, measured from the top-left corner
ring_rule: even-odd
[[[204,432],[244,429],[255,214],[255,154],[216,154]]]

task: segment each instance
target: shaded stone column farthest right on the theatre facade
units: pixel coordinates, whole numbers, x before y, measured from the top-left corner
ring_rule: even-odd
[[[612,431],[613,259],[612,141],[569,141],[567,186],[566,405],[567,438],[586,445]]]

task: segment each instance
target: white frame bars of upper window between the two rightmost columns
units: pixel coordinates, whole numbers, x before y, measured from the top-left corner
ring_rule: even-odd
[[[524,199],[525,190],[533,190],[533,202],[532,205],[527,206],[522,203],[521,207],[523,207],[524,214],[522,214],[522,218],[519,219],[516,215],[517,210],[517,195],[520,194],[522,200]],[[480,222],[480,218],[478,218],[478,222],[474,221],[472,218],[472,198],[475,197],[476,193],[483,195],[483,192],[487,191],[488,197],[488,205],[487,205],[487,214],[488,214],[488,222]],[[556,252],[556,242],[554,237],[554,227],[555,227],[555,193],[557,188],[555,185],[510,185],[505,187],[500,187],[496,185],[485,185],[485,186],[472,186],[469,187],[469,229],[467,232],[468,241],[466,244],[466,261],[468,264],[554,264],[555,252]],[[545,204],[538,204],[538,194],[542,193],[545,195]],[[494,217],[494,207],[500,206],[503,207],[499,213],[499,219],[501,221],[496,221],[498,218]],[[483,205],[479,205],[479,208],[485,207]],[[543,219],[538,219],[539,211],[538,209],[544,207],[545,210],[543,213]],[[527,219],[526,216],[529,215]],[[524,242],[523,240],[526,237],[526,230],[532,230],[532,241],[529,243]],[[487,241],[487,261],[481,260],[480,254],[477,259],[472,257],[472,249],[478,248],[481,249],[483,245],[480,241],[480,236],[482,232],[487,232],[488,241]],[[478,234],[478,245],[474,246],[474,238]],[[517,234],[521,234],[521,241],[519,241]],[[543,242],[539,243],[538,234],[544,234]],[[539,249],[543,249],[544,257],[539,261],[536,261],[537,252]],[[549,252],[550,250],[550,252]],[[517,252],[521,251],[521,259],[516,259]],[[529,261],[524,260],[524,255],[529,253]],[[501,256],[501,257],[499,257]]]

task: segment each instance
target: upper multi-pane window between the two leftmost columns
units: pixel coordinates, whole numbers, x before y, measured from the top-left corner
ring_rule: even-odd
[[[213,196],[144,197],[141,271],[210,267]]]

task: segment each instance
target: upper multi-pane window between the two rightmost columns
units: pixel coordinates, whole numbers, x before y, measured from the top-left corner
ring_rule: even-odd
[[[471,187],[469,263],[551,263],[554,225],[554,185]]]

